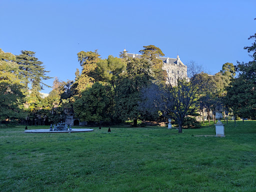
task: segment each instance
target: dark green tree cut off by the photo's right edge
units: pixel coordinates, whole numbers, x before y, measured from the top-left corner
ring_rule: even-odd
[[[238,77],[234,78],[227,88],[225,103],[239,116],[256,115],[256,33],[248,39],[255,39],[251,46],[245,46],[252,53],[252,61],[237,62]]]

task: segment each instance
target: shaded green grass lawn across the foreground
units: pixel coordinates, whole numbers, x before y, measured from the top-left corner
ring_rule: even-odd
[[[256,121],[200,129],[0,128],[0,191],[256,191]],[[28,126],[28,129],[48,126]],[[75,128],[75,127],[73,127]]]

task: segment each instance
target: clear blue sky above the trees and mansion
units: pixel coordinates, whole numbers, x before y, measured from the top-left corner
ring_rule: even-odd
[[[0,0],[0,48],[35,51],[63,81],[81,69],[81,50],[107,58],[149,44],[214,74],[225,62],[251,60],[243,47],[256,32],[255,10],[256,0]]]

